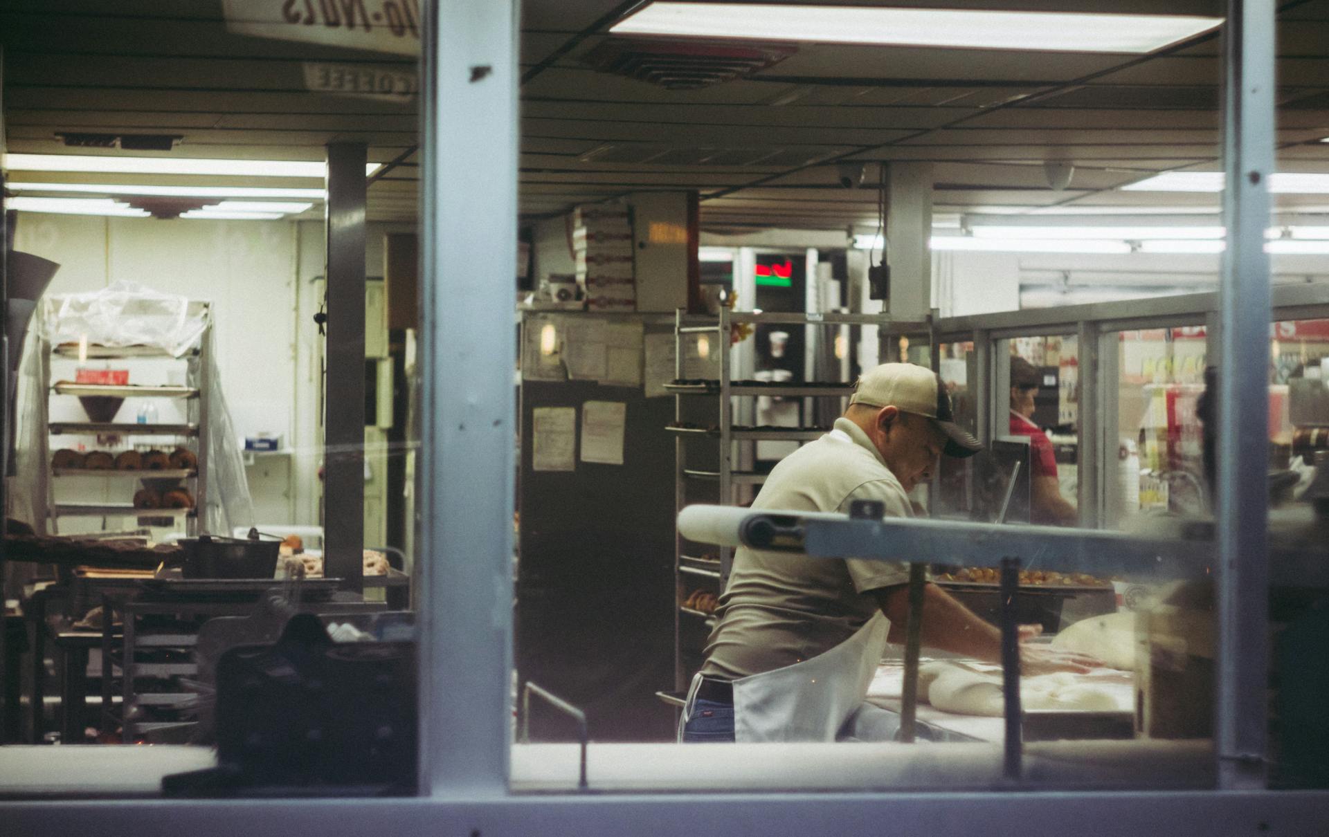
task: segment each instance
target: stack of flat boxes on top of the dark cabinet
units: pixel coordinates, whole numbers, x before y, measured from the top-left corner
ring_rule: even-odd
[[[599,203],[573,210],[573,256],[577,283],[589,311],[635,311],[633,221],[622,205]]]

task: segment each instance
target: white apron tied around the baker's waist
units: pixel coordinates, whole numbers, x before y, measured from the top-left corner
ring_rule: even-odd
[[[878,611],[853,636],[829,651],[734,680],[734,739],[740,743],[835,741],[868,694],[889,630],[890,620]],[[679,741],[700,683],[698,674],[679,721]]]

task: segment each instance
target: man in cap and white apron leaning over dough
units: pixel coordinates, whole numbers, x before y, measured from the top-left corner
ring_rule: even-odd
[[[844,513],[856,500],[874,500],[888,515],[910,517],[906,493],[930,477],[941,453],[978,449],[954,424],[936,373],[882,364],[860,377],[829,433],[775,466],[752,508]],[[863,703],[886,642],[904,639],[908,577],[902,563],[739,547],[682,739],[835,740]],[[934,585],[925,589],[922,642],[983,660],[1001,656],[999,631]],[[1094,663],[1022,648],[1026,674]]]

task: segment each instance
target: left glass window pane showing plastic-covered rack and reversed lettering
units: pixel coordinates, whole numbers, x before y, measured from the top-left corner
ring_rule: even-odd
[[[260,5],[0,12],[0,743],[88,745],[5,748],[43,793],[416,789],[417,7]]]

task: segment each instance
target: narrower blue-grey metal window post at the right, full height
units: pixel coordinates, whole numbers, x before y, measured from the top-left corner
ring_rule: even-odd
[[[1228,246],[1219,288],[1219,785],[1263,788],[1269,597],[1269,175],[1275,169],[1275,4],[1228,0],[1223,151]]]

